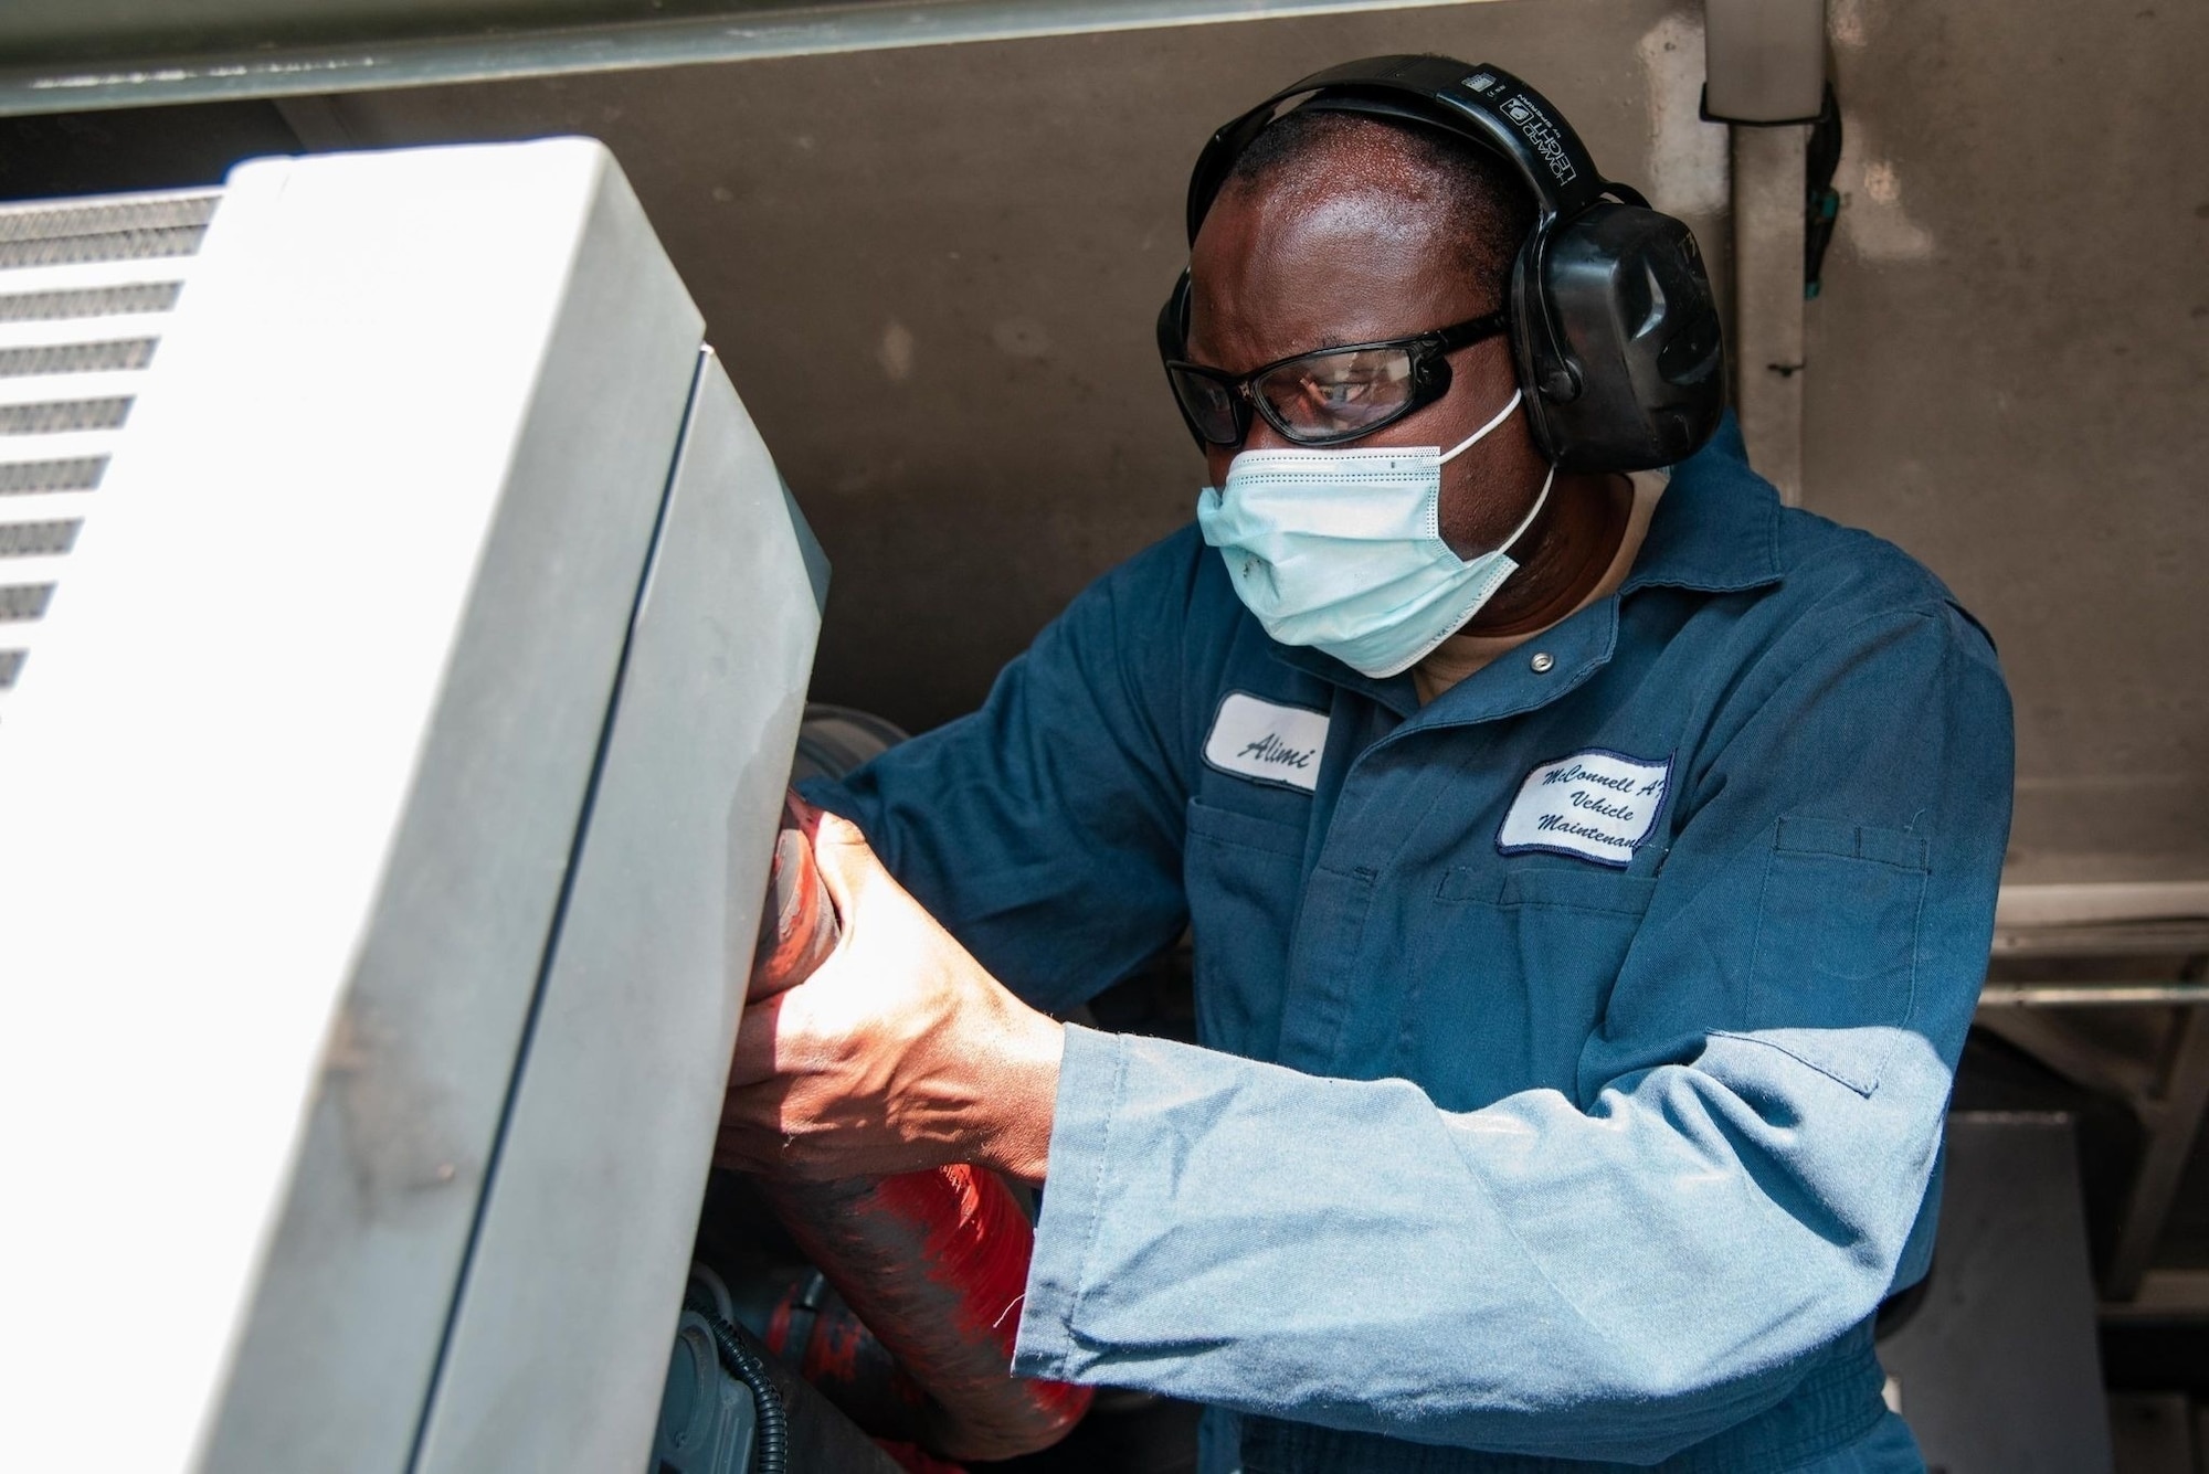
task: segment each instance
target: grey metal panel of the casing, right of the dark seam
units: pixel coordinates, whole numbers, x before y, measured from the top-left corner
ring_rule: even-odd
[[[707,355],[424,1474],[652,1448],[817,631],[780,477]]]

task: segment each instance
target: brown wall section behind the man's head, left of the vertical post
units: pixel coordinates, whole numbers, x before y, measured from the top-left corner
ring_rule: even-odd
[[[1692,0],[1502,0],[1244,26],[358,93],[309,146],[603,137],[837,565],[815,695],[926,728],[1204,463],[1151,322],[1235,108],[1354,55],[1533,77],[1727,278],[1725,128]],[[303,117],[287,110],[287,117]]]

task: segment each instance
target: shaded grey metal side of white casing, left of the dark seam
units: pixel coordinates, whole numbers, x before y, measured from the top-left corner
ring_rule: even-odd
[[[406,1467],[698,327],[636,199],[603,168],[208,1470]]]

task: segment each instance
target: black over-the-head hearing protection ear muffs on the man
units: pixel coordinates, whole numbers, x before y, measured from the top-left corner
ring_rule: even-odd
[[[1438,128],[1502,157],[1533,192],[1535,227],[1511,267],[1511,346],[1526,421],[1560,470],[1670,466],[1719,428],[1725,349],[1694,234],[1597,174],[1564,115],[1500,66],[1367,57],[1275,93],[1197,157],[1191,243],[1241,150],[1301,108]],[[1158,316],[1160,355],[1182,357],[1186,340],[1184,269]]]

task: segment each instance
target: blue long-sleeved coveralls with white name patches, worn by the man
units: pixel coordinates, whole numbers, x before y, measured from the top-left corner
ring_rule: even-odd
[[[1235,693],[1317,772],[1222,750]],[[1067,1030],[1018,1370],[1237,1410],[1248,1474],[1922,1467],[1869,1317],[1931,1256],[2010,702],[1732,421],[1617,596],[1425,708],[1182,530],[811,792],[1043,1008],[1193,927],[1204,1048]]]

